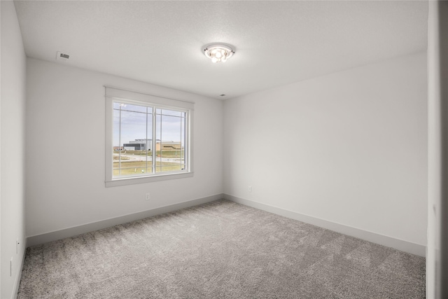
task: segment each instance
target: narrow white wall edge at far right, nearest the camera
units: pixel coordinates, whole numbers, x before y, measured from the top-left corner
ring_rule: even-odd
[[[428,16],[428,254],[426,298],[448,297],[448,2]]]

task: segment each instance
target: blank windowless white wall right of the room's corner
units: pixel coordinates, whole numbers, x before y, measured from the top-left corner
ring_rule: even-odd
[[[426,246],[426,90],[419,53],[225,101],[225,194]]]

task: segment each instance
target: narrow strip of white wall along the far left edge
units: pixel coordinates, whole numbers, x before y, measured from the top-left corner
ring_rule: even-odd
[[[26,57],[13,1],[1,6],[1,298],[12,298],[25,250]],[[16,253],[16,240],[20,246]],[[10,258],[13,272],[10,276]]]

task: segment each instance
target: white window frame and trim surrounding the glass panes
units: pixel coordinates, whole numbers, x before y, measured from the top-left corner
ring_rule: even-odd
[[[153,181],[165,181],[168,179],[181,179],[193,176],[193,102],[169,99],[155,95],[147,95],[142,92],[125,90],[104,86],[106,88],[106,187],[125,186],[136,183],[150,183]],[[158,109],[174,109],[186,112],[186,169],[179,172],[162,172],[139,176],[113,177],[113,102],[125,102],[129,104],[155,106]],[[153,116],[155,119],[155,115]],[[155,137],[153,137],[155,139]]]

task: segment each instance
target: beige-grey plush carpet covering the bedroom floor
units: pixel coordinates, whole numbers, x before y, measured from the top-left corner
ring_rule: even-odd
[[[18,298],[424,298],[425,259],[227,200],[27,249]]]

